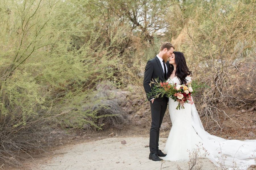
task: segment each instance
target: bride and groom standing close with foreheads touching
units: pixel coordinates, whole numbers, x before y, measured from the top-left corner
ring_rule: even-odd
[[[191,72],[183,53],[174,50],[175,47],[170,42],[164,42],[155,58],[146,63],[143,81],[146,94],[152,91],[154,84],[150,86],[150,81],[156,78],[161,82],[179,85],[186,85],[191,81]],[[172,98],[150,96],[148,101],[152,118],[149,139],[150,160],[186,161],[189,160],[188,150],[192,151],[201,146],[199,152],[202,154],[207,150],[207,154],[202,155],[217,166],[245,170],[250,165],[256,165],[256,140],[226,140],[210,135],[203,128],[195,104],[180,103],[185,109],[176,110],[177,101]],[[172,128],[165,144],[165,154],[159,149],[158,141],[167,106]]]

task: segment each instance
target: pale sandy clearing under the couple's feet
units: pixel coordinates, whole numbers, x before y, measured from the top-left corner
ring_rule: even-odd
[[[122,145],[125,140],[127,144]],[[149,148],[146,137],[113,137],[96,141],[67,145],[55,150],[52,158],[37,160],[26,169],[32,170],[173,170],[180,165],[187,170],[187,162],[154,162],[148,159]],[[164,148],[166,138],[160,138],[160,149]],[[202,170],[219,170],[208,159],[202,159]]]

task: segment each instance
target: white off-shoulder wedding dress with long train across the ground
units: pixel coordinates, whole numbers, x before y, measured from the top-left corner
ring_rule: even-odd
[[[191,81],[191,77],[186,79]],[[177,77],[172,80],[168,78],[167,81],[180,84]],[[204,130],[195,104],[185,103],[185,109],[176,110],[177,104],[177,101],[169,98],[172,128],[164,149],[167,156],[162,159],[165,161],[189,160],[187,150],[196,149],[200,143],[208,152],[206,158],[217,166],[245,170],[250,165],[256,165],[256,140],[226,140],[210,135]],[[201,150],[199,154],[203,152]]]

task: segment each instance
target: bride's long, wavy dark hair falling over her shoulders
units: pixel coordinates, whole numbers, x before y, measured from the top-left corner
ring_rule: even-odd
[[[186,77],[188,75],[192,75],[191,71],[189,71],[188,67],[187,67],[187,63],[186,63],[186,59],[184,57],[184,54],[182,52],[179,51],[174,51],[173,52],[175,55],[175,63],[176,63],[176,72],[175,72],[175,76],[177,76],[181,82],[181,84],[185,84],[187,83],[187,79]],[[172,74],[174,67],[172,64],[168,77],[170,77],[170,75]]]

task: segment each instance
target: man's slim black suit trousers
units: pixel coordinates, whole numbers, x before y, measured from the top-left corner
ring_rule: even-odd
[[[167,103],[167,97],[157,97],[154,99],[153,103],[150,101],[152,122],[150,128],[149,149],[151,154],[154,154],[159,150],[159,131],[167,108]]]

